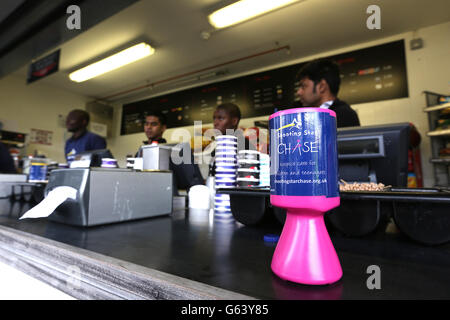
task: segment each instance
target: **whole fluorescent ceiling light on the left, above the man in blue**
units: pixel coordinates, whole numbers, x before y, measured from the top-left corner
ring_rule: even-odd
[[[150,45],[141,42],[135,46],[113,54],[108,58],[74,71],[69,75],[69,78],[75,82],[83,82],[142,59],[153,54],[154,52],[155,49],[153,49]]]

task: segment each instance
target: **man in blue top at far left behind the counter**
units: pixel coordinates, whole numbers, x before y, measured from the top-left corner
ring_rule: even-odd
[[[66,128],[73,133],[64,147],[67,160],[81,152],[106,149],[106,140],[87,130],[89,119],[89,113],[80,109],[72,110],[67,115]]]

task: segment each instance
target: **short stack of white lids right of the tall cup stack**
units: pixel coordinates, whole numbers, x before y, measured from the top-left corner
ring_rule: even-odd
[[[239,187],[259,186],[259,155],[256,150],[241,150],[238,154]]]

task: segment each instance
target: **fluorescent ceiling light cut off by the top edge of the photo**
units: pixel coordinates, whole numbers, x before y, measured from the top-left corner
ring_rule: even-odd
[[[213,12],[208,19],[216,29],[225,28],[297,1],[299,0],[241,0]]]

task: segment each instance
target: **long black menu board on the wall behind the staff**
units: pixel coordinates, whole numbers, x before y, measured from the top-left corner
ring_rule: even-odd
[[[328,58],[340,66],[338,97],[350,105],[408,97],[403,40]],[[194,121],[211,123],[216,106],[225,102],[237,104],[242,118],[301,107],[296,74],[305,63],[125,104],[121,135],[143,132],[143,120],[150,111],[164,113],[167,127],[175,128],[194,125]]]

